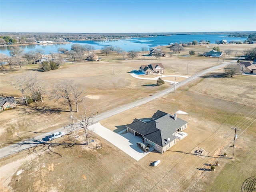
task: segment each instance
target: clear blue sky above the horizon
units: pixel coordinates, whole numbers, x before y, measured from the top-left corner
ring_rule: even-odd
[[[256,31],[256,0],[0,0],[0,32]]]

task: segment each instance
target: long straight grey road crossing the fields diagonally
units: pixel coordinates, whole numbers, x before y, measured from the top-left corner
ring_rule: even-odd
[[[236,61],[234,61],[234,62],[236,62]],[[190,78],[187,78],[186,80],[176,84],[175,89],[177,89],[177,88],[187,84],[188,82],[191,82],[192,80],[195,80],[196,78],[198,78],[198,77],[200,77],[200,76],[202,76],[202,75],[204,75],[204,74],[206,74],[208,72],[214,71],[214,70],[216,70],[218,68],[222,68],[222,67],[226,66],[228,63],[229,62],[224,62],[224,63],[222,63],[222,64],[220,64],[218,66],[214,66],[212,68],[209,68],[209,69],[206,69],[206,70],[204,70],[202,72],[194,74]],[[152,101],[152,100],[154,100],[156,98],[159,98],[161,96],[164,96],[165,94],[168,94],[170,92],[174,92],[174,86],[171,86],[170,88],[167,88],[167,89],[165,89],[165,90],[163,90],[161,92],[157,92],[156,94],[154,94],[152,96],[148,96],[148,97],[146,97],[144,99],[132,102],[130,104],[126,104],[124,106],[120,106],[118,108],[115,108],[113,110],[104,112],[102,114],[98,114],[98,116],[93,118],[93,124],[96,123],[96,122],[99,122],[101,120],[104,120],[106,118],[109,118],[110,116],[114,116],[114,115],[116,115],[118,113],[124,112],[124,111],[126,111],[128,109],[134,108],[136,106],[140,106],[142,104],[146,104],[146,103],[148,103],[148,102],[150,102],[150,101]],[[52,131],[52,133],[53,132],[59,132],[59,131],[65,131],[64,127],[59,128],[58,130],[54,130],[54,131]],[[43,138],[45,138],[48,135],[49,135],[49,133],[45,133],[45,134],[42,134],[40,136],[37,136],[37,137],[34,137],[34,138],[30,138],[28,140],[24,140],[22,142],[19,142],[19,143],[16,143],[16,144],[13,144],[13,145],[1,148],[0,149],[0,158],[4,158],[6,156],[9,156],[11,154],[20,152],[22,150],[26,150],[28,148],[32,148],[32,147],[44,144]]]

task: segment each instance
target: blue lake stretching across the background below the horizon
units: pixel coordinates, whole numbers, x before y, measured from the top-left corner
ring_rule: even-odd
[[[193,40],[200,41],[210,41],[215,43],[216,40],[220,41],[222,39],[230,41],[242,41],[246,40],[245,37],[227,37],[227,34],[208,34],[208,35],[173,35],[173,36],[158,36],[158,37],[142,37],[142,38],[130,38],[130,39],[120,39],[120,40],[88,40],[88,41],[71,41],[68,44],[33,44],[20,46],[25,52],[30,50],[36,50],[37,48],[43,49],[45,54],[50,54],[50,52],[57,53],[59,47],[70,50],[72,44],[79,43],[81,45],[90,44],[94,46],[96,50],[100,50],[103,46],[118,46],[125,51],[136,50],[140,51],[142,47],[156,47],[158,45],[164,46],[168,43],[179,43],[181,42],[192,42]],[[11,46],[0,46],[0,53],[9,55],[9,50]]]

